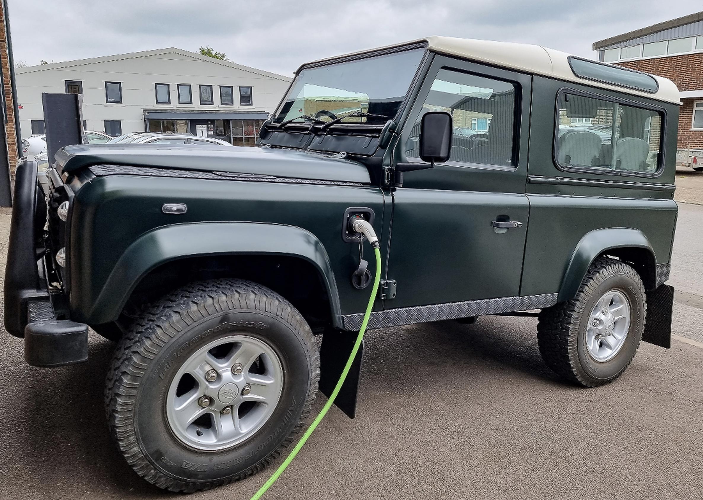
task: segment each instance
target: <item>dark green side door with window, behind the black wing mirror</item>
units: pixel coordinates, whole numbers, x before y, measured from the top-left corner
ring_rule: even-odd
[[[427,111],[451,113],[451,158],[405,172],[393,193],[385,309],[520,295],[530,94],[527,75],[435,56],[396,158],[421,162]]]

